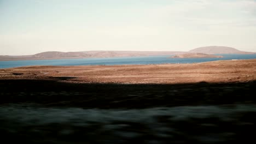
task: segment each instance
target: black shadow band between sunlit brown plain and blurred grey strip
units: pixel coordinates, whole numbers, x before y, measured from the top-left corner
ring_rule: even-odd
[[[159,106],[255,104],[255,87],[256,81],[124,85],[65,83],[54,80],[0,80],[0,98],[1,104],[37,103],[50,107],[141,109]]]

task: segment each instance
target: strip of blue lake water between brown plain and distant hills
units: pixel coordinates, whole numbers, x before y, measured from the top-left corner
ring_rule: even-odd
[[[122,65],[122,64],[163,64],[163,63],[200,63],[229,59],[254,59],[254,55],[220,54],[223,58],[170,58],[169,56],[112,57],[112,58],[78,58],[45,59],[26,61],[0,61],[0,68],[13,68],[28,65]]]

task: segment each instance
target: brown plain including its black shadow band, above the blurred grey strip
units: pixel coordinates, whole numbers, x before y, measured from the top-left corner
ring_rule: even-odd
[[[0,70],[1,103],[88,108],[255,103],[256,59]]]

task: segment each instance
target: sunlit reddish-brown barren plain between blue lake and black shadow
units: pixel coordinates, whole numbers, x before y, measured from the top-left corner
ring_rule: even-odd
[[[71,83],[196,83],[256,80],[256,59],[193,64],[31,66],[0,69],[0,79]]]

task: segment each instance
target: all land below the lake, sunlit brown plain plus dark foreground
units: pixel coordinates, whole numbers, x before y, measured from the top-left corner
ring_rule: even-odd
[[[255,143],[255,63],[1,69],[1,141]]]

